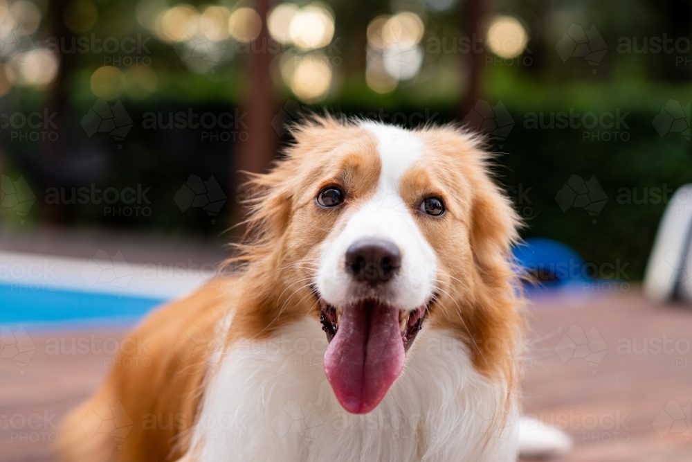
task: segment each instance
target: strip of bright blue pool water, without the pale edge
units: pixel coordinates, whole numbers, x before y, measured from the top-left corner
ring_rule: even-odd
[[[0,323],[138,319],[163,299],[0,284]]]

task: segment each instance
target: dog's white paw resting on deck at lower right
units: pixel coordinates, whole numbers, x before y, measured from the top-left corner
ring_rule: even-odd
[[[522,459],[553,459],[572,449],[572,438],[565,432],[535,418],[519,420],[519,456]]]

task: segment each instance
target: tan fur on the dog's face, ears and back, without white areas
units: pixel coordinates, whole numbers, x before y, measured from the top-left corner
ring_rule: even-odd
[[[319,318],[309,287],[318,246],[374,194],[381,162],[376,139],[357,125],[316,118],[293,133],[296,142],[286,150],[286,159],[252,181],[248,231],[229,262],[242,268],[240,274],[219,278],[150,315],[135,335],[153,339],[152,365],[113,368],[93,398],[121,402],[134,421],[119,443],[122,449],[111,436],[87,438],[80,429],[91,400],[66,420],[62,438],[66,460],[153,462],[185,454],[186,430],[199,411],[205,377],[213,373],[209,351],[184,362],[175,353],[176,342],[190,326],[199,326],[207,339],[216,341],[217,327],[233,313],[226,337],[219,339],[229,345],[239,338],[268,337],[305,315]],[[477,371],[503,377],[513,387],[518,380],[520,317],[509,256],[518,218],[491,180],[487,156],[475,139],[454,127],[418,133],[427,149],[424,161],[401,179],[399,189],[439,258],[440,291],[426,323],[453,328],[471,350]],[[345,189],[345,207],[324,210],[314,205],[318,191],[330,184]],[[428,195],[445,200],[445,217],[417,213]],[[185,425],[143,429],[148,413],[183,414]]]

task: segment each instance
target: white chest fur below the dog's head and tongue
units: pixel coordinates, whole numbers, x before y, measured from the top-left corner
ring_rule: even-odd
[[[516,409],[475,373],[464,345],[424,328],[370,414],[348,414],[322,370],[327,340],[305,318],[272,339],[235,344],[207,385],[190,459],[221,461],[516,460]]]

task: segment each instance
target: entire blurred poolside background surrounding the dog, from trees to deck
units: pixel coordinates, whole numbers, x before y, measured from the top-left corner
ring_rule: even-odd
[[[229,256],[239,170],[325,110],[482,132],[542,283],[525,411],[573,461],[692,460],[691,42],[689,0],[0,0],[0,460],[52,460],[125,329]]]

